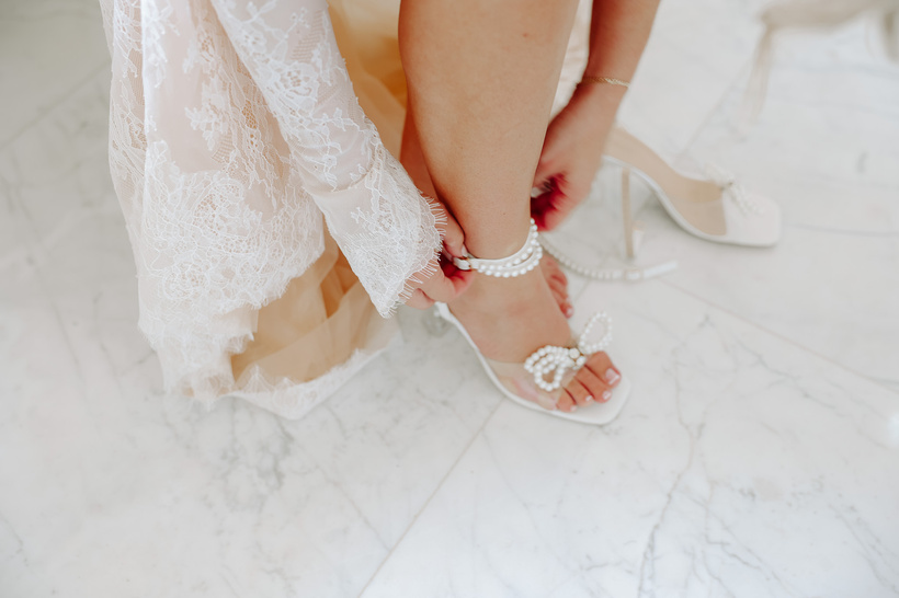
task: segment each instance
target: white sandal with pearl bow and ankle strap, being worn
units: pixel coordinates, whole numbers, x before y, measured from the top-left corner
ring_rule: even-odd
[[[502,260],[478,260],[469,255],[456,260],[455,263],[463,269],[474,269],[488,276],[509,278],[534,269],[542,255],[543,250],[537,241],[537,227],[532,220],[527,241],[514,255]],[[510,364],[496,361],[481,355],[468,331],[445,303],[436,303],[435,309],[437,315],[459,329],[462,335],[475,349],[493,384],[505,396],[522,406],[572,422],[602,425],[607,424],[621,413],[630,394],[630,381],[622,376],[618,384],[612,389],[612,396],[607,401],[579,405],[572,413],[556,409],[565,387],[583,367],[590,355],[604,350],[612,341],[612,320],[605,312],[595,313],[571,346],[546,345],[535,350],[523,364]],[[602,336],[599,341],[590,343],[588,337],[598,324],[604,329]]]

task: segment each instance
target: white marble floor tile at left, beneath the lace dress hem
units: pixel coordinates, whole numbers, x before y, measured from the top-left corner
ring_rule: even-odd
[[[163,398],[106,173],[106,87],[79,87],[0,156],[0,587],[353,595],[500,399],[417,312],[300,422]]]

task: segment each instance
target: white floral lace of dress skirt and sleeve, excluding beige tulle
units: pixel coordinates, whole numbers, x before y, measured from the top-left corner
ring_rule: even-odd
[[[322,220],[389,314],[440,237],[359,107],[325,0],[101,8],[110,166],[167,387],[232,389],[229,356],[321,254]]]

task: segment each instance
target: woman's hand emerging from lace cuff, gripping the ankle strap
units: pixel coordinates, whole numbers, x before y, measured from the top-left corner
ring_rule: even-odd
[[[462,271],[453,265],[453,257],[465,257],[468,253],[465,249],[465,235],[443,204],[435,202],[434,207],[435,211],[440,210],[445,217],[444,223],[437,223],[443,239],[443,252],[428,264],[426,272],[430,274],[419,273],[416,275],[418,280],[409,283],[413,290],[406,304],[416,309],[428,309],[434,301],[452,301],[468,288],[475,275],[473,271]]]

